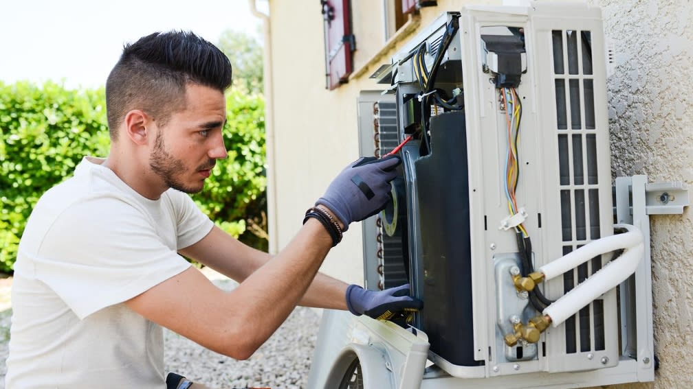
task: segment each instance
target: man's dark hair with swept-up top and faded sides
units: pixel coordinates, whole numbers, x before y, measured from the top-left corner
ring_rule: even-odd
[[[132,109],[141,109],[166,125],[185,108],[186,84],[222,93],[231,85],[231,63],[219,48],[191,32],[171,31],[126,44],[108,75],[106,111],[111,138]]]

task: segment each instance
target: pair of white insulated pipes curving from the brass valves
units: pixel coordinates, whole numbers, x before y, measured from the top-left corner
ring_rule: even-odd
[[[597,255],[624,249],[624,253],[615,260],[608,262],[602,269],[599,269],[599,271],[588,277],[587,280],[581,282],[577,287],[565,293],[565,295],[553,302],[552,305],[544,309],[542,313],[551,318],[553,327],[561,325],[570,316],[576,314],[577,311],[586,307],[590,302],[615,288],[629,278],[631,274],[635,273],[635,269],[638,268],[638,264],[644,255],[642,232],[629,224],[616,224],[614,227],[626,228],[628,232],[590,242],[539,269],[539,271],[544,273],[544,269],[548,267],[548,271],[552,276],[549,277],[547,273],[544,273],[544,275],[546,279],[550,279],[573,269],[575,266]],[[556,264],[555,262],[561,263]]]

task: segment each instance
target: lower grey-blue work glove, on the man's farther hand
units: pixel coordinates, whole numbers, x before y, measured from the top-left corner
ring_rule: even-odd
[[[407,296],[409,289],[410,285],[404,284],[384,291],[369,291],[352,284],[347,288],[347,307],[356,316],[366,314],[378,320],[403,317],[408,323],[414,312],[423,308],[423,301]]]

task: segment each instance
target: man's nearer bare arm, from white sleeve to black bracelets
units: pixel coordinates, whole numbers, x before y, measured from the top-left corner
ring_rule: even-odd
[[[125,304],[210,350],[247,359],[297,305],[331,243],[324,226],[309,219],[281,253],[230,293],[190,268]]]

